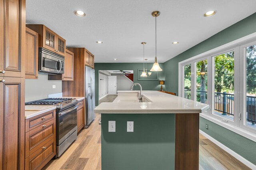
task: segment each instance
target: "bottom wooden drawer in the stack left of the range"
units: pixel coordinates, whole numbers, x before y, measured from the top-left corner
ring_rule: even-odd
[[[54,140],[50,140],[42,148],[39,148],[25,160],[26,170],[42,169],[56,154]]]

